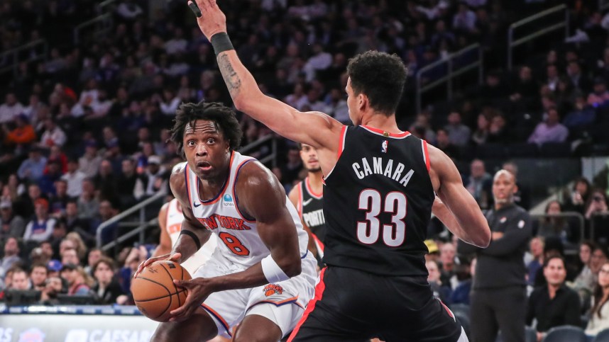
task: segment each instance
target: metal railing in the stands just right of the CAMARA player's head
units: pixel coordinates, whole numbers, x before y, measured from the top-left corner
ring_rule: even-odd
[[[471,57],[474,57],[471,59]],[[471,59],[471,62],[468,61]],[[450,101],[453,98],[453,79],[472,69],[478,69],[478,84],[482,84],[483,79],[483,50],[480,44],[469,45],[463,49],[452,53],[445,59],[440,59],[417,71],[417,113],[421,112],[422,96],[429,90],[446,84],[446,98]],[[442,74],[438,78],[430,78],[426,81],[426,75],[432,71]]]

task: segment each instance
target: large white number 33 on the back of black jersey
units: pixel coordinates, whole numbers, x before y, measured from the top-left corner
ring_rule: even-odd
[[[357,223],[357,238],[362,244],[374,244],[380,234],[380,214],[382,198],[375,189],[363,190],[359,195],[358,209],[366,210],[366,221]],[[406,195],[397,191],[385,196],[384,212],[393,214],[392,224],[383,224],[383,242],[390,247],[400,246],[406,238]]]

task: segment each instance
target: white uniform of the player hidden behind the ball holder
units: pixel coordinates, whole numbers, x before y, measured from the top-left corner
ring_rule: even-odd
[[[182,208],[179,202],[174,198],[170,201],[167,207],[167,222],[165,222],[165,229],[171,239],[171,246],[175,245],[177,236],[180,236],[180,230],[182,230],[182,221],[184,215],[182,215]],[[186,268],[190,275],[194,274],[197,268],[203,266],[209,258],[212,257],[212,253],[216,249],[218,239],[215,235],[209,237],[209,240],[199,249],[196,253],[192,254],[187,261],[184,261],[181,265]]]

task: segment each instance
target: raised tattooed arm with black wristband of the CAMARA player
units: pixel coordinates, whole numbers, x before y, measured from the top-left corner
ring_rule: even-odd
[[[281,101],[265,96],[233,49],[226,35],[226,16],[220,11],[216,1],[194,0],[194,2],[202,12],[202,16],[197,18],[197,23],[214,45],[220,72],[236,108],[262,122],[282,137],[309,144],[321,153],[324,149],[328,149],[331,154],[336,155],[342,124],[327,114],[303,113]],[[322,169],[329,171],[334,164],[329,167],[322,164]]]

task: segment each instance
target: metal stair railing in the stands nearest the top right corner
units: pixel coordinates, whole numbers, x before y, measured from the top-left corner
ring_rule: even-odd
[[[549,25],[542,29],[533,28],[534,32],[530,32],[522,38],[515,38],[515,31],[517,29],[523,28],[525,25],[531,23],[535,23],[537,25],[539,25],[539,23],[547,23],[549,21],[549,16],[560,12],[564,12],[564,16],[561,17],[562,19],[559,22],[549,23]],[[507,69],[512,69],[515,47],[525,44],[525,42],[530,42],[531,40],[541,37],[542,35],[546,35],[547,33],[560,30],[561,28],[564,28],[564,37],[569,37],[569,8],[565,4],[548,8],[545,11],[541,11],[530,17],[512,23],[512,25],[510,25],[510,29],[507,30]]]

